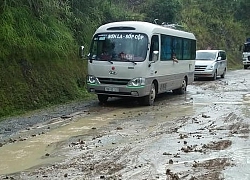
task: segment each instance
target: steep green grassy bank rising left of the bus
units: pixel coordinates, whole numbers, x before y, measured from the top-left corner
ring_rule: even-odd
[[[86,97],[86,62],[72,32],[26,7],[0,14],[0,117]]]

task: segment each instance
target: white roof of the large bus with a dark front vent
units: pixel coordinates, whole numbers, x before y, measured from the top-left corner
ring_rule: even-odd
[[[149,36],[152,34],[166,34],[187,39],[196,39],[193,33],[142,21],[121,21],[104,24],[96,30],[95,34],[107,32],[137,32],[145,33]]]

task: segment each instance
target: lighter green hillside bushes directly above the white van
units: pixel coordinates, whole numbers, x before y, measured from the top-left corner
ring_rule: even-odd
[[[245,41],[249,25],[236,20],[239,1],[189,0],[183,4],[179,21],[197,38],[197,49],[224,49],[229,68],[241,68],[239,46]],[[241,9],[239,7],[239,9]],[[245,27],[243,27],[245,26]]]

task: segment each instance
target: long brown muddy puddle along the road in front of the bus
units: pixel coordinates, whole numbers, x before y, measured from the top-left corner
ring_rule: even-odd
[[[121,112],[115,113],[122,114]],[[93,127],[98,128],[107,124],[113,118],[114,116],[109,113],[102,113],[101,116],[95,117],[86,116],[46,134],[4,145],[0,151],[0,174],[11,174],[58,161],[60,157],[51,155],[58,142],[73,136],[83,135]]]

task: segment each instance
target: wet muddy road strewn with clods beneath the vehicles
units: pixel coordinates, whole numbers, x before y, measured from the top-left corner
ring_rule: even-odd
[[[151,107],[114,99],[4,121],[0,179],[250,180],[249,77],[197,80]]]

